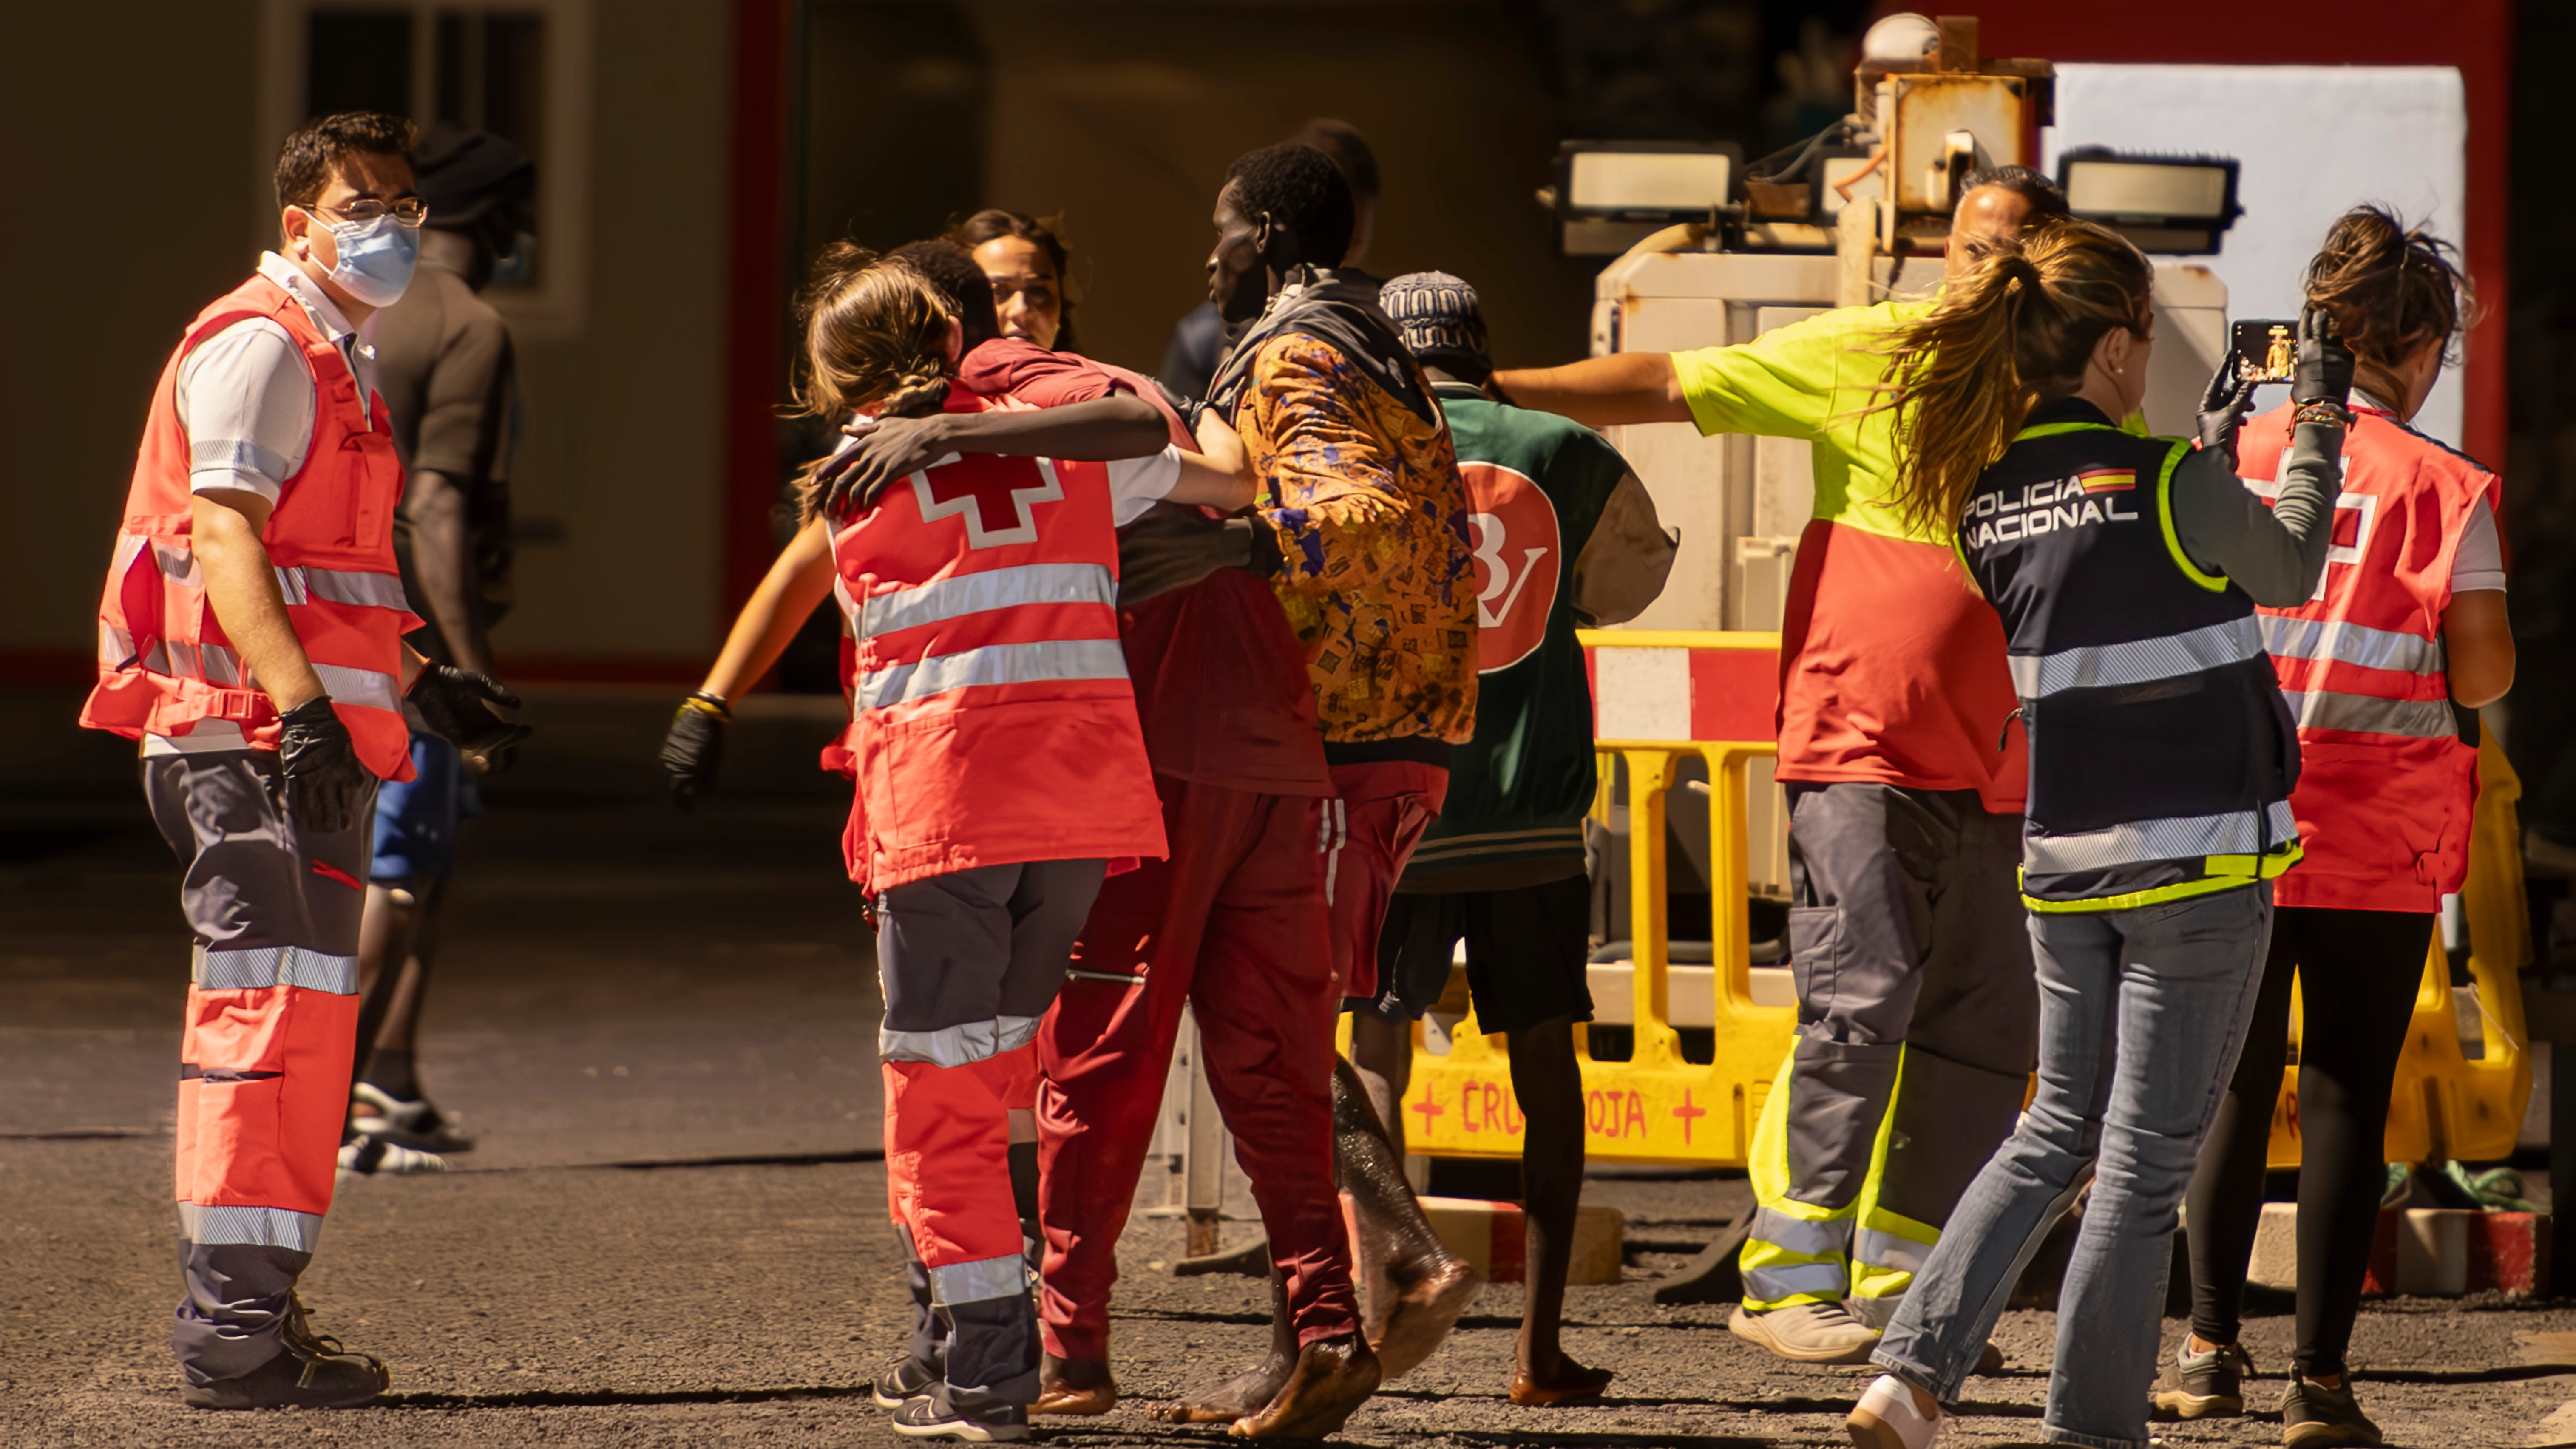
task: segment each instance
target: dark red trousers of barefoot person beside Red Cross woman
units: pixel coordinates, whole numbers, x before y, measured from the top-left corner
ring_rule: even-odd
[[[1038,1027],[1046,1351],[1105,1359],[1118,1233],[1195,1004],[1208,1084],[1252,1179],[1298,1343],[1355,1333],[1332,1176],[1340,993],[1324,909],[1324,798],[1157,777],[1172,860],[1110,878]],[[1097,981],[1133,975],[1133,983]]]

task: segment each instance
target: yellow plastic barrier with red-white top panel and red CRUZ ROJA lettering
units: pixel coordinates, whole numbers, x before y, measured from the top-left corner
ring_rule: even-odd
[[[1584,631],[1584,646],[1600,661],[1607,651],[1641,651],[1631,659],[1649,677],[1674,664],[1682,695],[1646,700],[1674,710],[1674,718],[1747,723],[1770,734],[1772,679],[1780,636],[1772,633],[1651,633]],[[1649,659],[1643,651],[1682,651],[1680,659]],[[1600,674],[1597,664],[1597,674]],[[1762,692],[1741,685],[1759,679]],[[1718,697],[1723,695],[1723,697]],[[1618,721],[1623,705],[1605,697],[1602,718]],[[1762,1096],[1780,1068],[1795,1011],[1754,1006],[1752,950],[1744,891],[1744,806],[1747,762],[1775,754],[1772,739],[1690,741],[1690,739],[1602,739],[1600,798],[1595,816],[1607,818],[1613,767],[1628,770],[1628,865],[1631,865],[1631,973],[1633,1055],[1631,1060],[1592,1060],[1587,1032],[1577,1029],[1577,1055],[1584,1071],[1584,1153],[1592,1161],[1744,1166],[1752,1148]],[[1710,860],[1710,937],[1718,947],[1716,973],[1716,1060],[1682,1060],[1682,1037],[1672,1029],[1664,934],[1664,795],[1674,788],[1682,759],[1708,762],[1708,860]],[[1432,1053],[1414,1027],[1414,1078],[1404,1094],[1404,1145],[1425,1156],[1517,1158],[1520,1104],[1512,1099],[1512,1068],[1502,1037],[1486,1037],[1468,1014],[1450,1032],[1450,1050]]]

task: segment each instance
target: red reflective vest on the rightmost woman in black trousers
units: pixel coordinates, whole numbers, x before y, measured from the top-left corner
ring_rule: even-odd
[[[2468,872],[2478,800],[2442,615],[2470,510],[2494,507],[2501,481],[2383,409],[2352,412],[2326,577],[2306,605],[2259,615],[2306,759],[2290,808],[2308,857],[2272,898],[2437,911]],[[2236,471],[2277,492],[2287,443],[2287,407],[2246,420]]]

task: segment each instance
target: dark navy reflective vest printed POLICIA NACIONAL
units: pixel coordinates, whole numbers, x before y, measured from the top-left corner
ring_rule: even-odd
[[[2280,875],[2298,736],[2254,600],[2174,533],[2190,443],[2084,401],[2032,417],[1958,530],[2030,731],[2022,901],[2120,911]]]

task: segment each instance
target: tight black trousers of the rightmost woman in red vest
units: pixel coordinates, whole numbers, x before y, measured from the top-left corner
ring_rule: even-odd
[[[2192,1333],[2233,1343],[2262,1220],[2264,1145],[2290,1053],[2290,973],[2306,968],[2298,1035],[2298,1372],[2342,1374],[2388,1184],[2380,1138],[2434,916],[2282,906],[2246,1050],[2190,1192]]]

